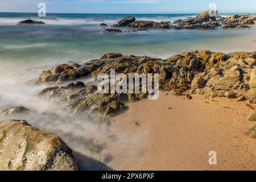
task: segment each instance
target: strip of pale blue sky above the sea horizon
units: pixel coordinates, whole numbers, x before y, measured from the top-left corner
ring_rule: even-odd
[[[256,13],[256,0],[0,0],[0,12],[47,13],[199,13],[216,3],[220,13]]]

